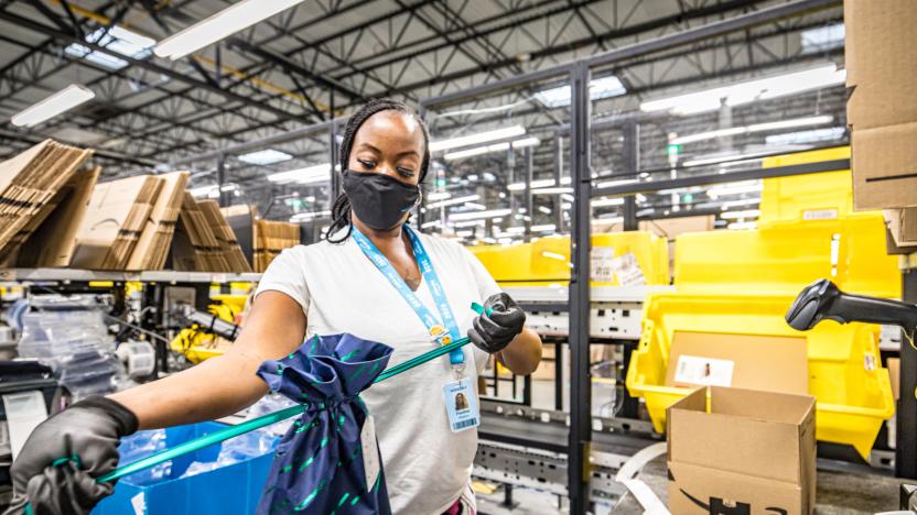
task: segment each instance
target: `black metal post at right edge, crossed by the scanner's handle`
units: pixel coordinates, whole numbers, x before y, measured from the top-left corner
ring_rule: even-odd
[[[906,303],[917,303],[917,270],[904,271],[902,297]],[[905,338],[902,340],[895,475],[917,479],[917,350]]]

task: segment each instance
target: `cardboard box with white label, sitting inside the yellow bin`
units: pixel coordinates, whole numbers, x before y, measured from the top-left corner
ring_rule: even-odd
[[[806,338],[677,331],[666,386],[809,392]]]

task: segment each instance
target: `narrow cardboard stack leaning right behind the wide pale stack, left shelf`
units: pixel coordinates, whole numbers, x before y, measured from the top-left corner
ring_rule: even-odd
[[[174,172],[159,177],[162,187],[127,262],[127,270],[162,270],[165,266],[182,210],[187,175],[187,172]]]

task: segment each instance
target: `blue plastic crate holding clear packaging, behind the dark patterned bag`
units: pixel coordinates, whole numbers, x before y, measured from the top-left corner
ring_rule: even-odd
[[[165,443],[171,448],[224,427],[224,424],[213,421],[171,427],[165,430]],[[274,439],[273,447],[278,441],[279,438]],[[121,447],[123,449],[125,443]],[[181,478],[195,461],[216,461],[220,448],[222,445],[215,445],[172,460],[168,474],[152,484],[149,482],[149,474],[143,479],[143,472],[121,479],[115,487],[115,493],[99,503],[93,509],[93,515],[255,513],[268,478],[268,469],[273,460],[273,452]],[[138,457],[130,461],[136,459]]]

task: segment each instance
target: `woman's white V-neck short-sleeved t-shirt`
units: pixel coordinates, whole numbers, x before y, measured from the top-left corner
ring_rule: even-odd
[[[464,336],[476,314],[471,304],[499,293],[481,262],[455,242],[420,234]],[[284,250],[265,272],[256,295],[282,292],[306,317],[306,338],[349,332],[395,349],[389,366],[435,348],[420,317],[363,253],[353,238]],[[439,318],[427,281],[414,294]],[[466,346],[465,376],[477,385],[487,354]],[[474,357],[474,365],[471,363]],[[362,394],[376,421],[391,509],[441,514],[467,487],[477,430],[452,432],[443,385],[455,381],[442,357]]]

